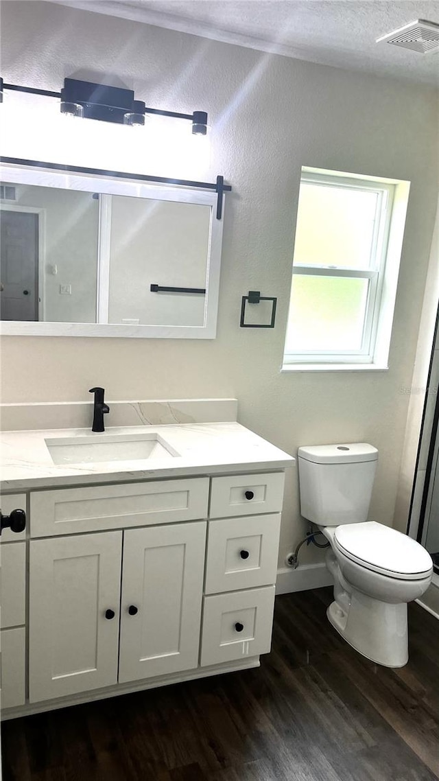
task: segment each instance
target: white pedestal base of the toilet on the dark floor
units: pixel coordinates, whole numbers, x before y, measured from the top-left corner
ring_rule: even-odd
[[[334,629],[372,662],[404,667],[409,661],[407,604],[380,602],[355,589],[344,596],[348,600],[334,601],[327,609]]]

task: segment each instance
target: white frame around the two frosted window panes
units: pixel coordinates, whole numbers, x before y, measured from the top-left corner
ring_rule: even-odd
[[[323,187],[337,189],[369,190],[378,194],[376,219],[374,221],[373,239],[371,244],[369,268],[355,269],[347,266],[316,266],[294,264],[292,268],[291,293],[295,275],[301,276],[331,276],[344,279],[369,280],[365,316],[362,328],[362,344],[358,350],[296,350],[287,351],[287,341],[284,347],[284,370],[303,368],[334,368],[334,366],[359,365],[358,368],[373,368],[371,364],[377,352],[379,325],[385,272],[387,266],[387,250],[391,230],[392,212],[398,183],[393,180],[379,180],[374,177],[346,176],[343,173],[319,172],[302,169],[300,184],[319,184]],[[297,225],[297,223],[296,223]],[[288,312],[287,328],[291,319],[292,302]],[[306,366],[308,365],[308,366]],[[366,365],[366,366],[361,366]],[[357,368],[353,366],[353,368]],[[384,367],[380,367],[384,368]]]

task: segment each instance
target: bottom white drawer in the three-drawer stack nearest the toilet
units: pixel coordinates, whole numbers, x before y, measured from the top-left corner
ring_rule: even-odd
[[[268,654],[274,586],[204,597],[201,665]]]

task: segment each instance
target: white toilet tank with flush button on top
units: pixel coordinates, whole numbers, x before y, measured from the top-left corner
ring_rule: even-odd
[[[365,442],[298,448],[304,518],[319,526],[366,521],[377,460],[377,448]]]

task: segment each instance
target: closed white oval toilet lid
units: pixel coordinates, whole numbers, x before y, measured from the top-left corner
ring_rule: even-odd
[[[430,554],[422,545],[375,521],[337,526],[334,544],[366,569],[400,580],[420,579],[432,569]]]

